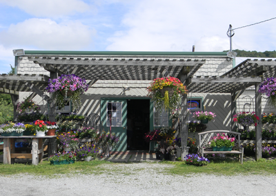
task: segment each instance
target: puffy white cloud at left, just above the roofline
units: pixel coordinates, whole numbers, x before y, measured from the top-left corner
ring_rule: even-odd
[[[95,30],[78,21],[57,23],[50,19],[28,19],[0,32],[5,47],[36,47],[41,50],[79,50],[92,42]]]

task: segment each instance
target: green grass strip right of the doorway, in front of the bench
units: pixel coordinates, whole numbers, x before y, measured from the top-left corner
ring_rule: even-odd
[[[168,164],[164,162],[163,164]],[[175,165],[173,168],[167,168],[166,173],[172,175],[190,175],[190,174],[212,174],[212,175],[276,175],[276,159],[259,159],[259,161],[244,161],[240,164],[238,161],[230,159],[212,160],[207,166],[193,166],[182,162],[170,162]]]

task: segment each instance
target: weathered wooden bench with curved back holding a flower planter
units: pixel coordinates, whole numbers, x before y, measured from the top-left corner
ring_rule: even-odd
[[[228,137],[235,137],[235,146],[233,146],[233,150],[231,151],[213,151],[210,148],[209,141],[211,137],[215,137],[219,135],[227,135]],[[241,133],[233,132],[230,130],[208,130],[202,133],[199,133],[199,153],[202,157],[204,154],[239,154],[239,160],[241,164],[244,161],[244,148],[241,147],[240,136]]]

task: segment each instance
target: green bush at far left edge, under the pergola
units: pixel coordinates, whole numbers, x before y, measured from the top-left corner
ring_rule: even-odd
[[[5,96],[1,96],[4,94],[0,94],[0,124],[4,124],[8,121],[13,120],[13,105],[12,102],[7,101],[7,99],[3,99]]]

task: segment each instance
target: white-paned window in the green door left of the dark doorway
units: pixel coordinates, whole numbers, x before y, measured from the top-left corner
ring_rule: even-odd
[[[121,102],[108,102],[106,126],[121,126]]]

